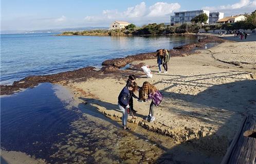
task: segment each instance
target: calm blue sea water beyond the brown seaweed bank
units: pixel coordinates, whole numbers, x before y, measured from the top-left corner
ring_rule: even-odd
[[[29,75],[45,75],[86,66],[100,67],[106,59],[194,42],[187,36],[54,36],[52,33],[1,34],[1,84]]]

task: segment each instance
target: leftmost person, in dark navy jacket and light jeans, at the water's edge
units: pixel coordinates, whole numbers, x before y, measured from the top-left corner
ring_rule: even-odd
[[[130,108],[129,106],[129,100],[131,98],[130,91],[135,91],[136,90],[136,84],[135,83],[129,83],[126,84],[126,86],[122,89],[118,96],[118,107],[122,111],[123,116],[122,116],[122,125],[123,129],[128,129],[127,125],[127,118],[128,118],[128,110]]]

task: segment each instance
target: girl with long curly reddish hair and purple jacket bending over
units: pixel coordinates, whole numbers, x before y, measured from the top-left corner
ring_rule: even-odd
[[[155,120],[154,107],[159,106],[159,104],[162,101],[161,93],[156,89],[155,86],[150,84],[148,81],[145,81],[140,90],[139,99],[143,101],[152,99],[150,104],[149,115],[145,118],[145,120],[149,120],[150,122],[153,122]]]

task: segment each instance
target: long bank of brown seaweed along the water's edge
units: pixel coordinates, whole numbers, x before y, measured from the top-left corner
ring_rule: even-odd
[[[216,36],[204,36],[201,35],[197,43],[183,45],[180,47],[174,47],[174,49],[169,50],[172,57],[176,56],[186,56],[190,54],[195,54],[195,49],[204,48],[205,44],[208,43],[222,43],[223,39],[220,39]],[[25,77],[19,81],[14,81],[11,86],[1,85],[1,95],[12,94],[21,89],[31,88],[37,86],[39,83],[58,83],[58,84],[67,84],[71,81],[83,81],[88,78],[104,78],[107,77],[108,73],[122,72],[118,71],[120,68],[131,64],[133,61],[142,61],[147,59],[153,59],[156,57],[156,52],[150,53],[141,53],[137,55],[130,55],[123,58],[109,59],[105,60],[102,63],[102,68],[96,70],[95,67],[85,67],[74,71],[61,72],[51,75],[40,75],[40,76],[29,76]],[[142,65],[141,63],[140,65]],[[137,66],[140,67],[140,65]],[[136,67],[136,66],[134,66]],[[140,69],[140,68],[139,68]]]

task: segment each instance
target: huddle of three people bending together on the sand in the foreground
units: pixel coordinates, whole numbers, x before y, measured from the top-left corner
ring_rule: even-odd
[[[122,112],[122,127],[124,130],[130,130],[131,128],[127,127],[128,115],[133,115],[137,111],[133,107],[133,97],[136,98],[139,102],[152,100],[150,104],[149,115],[144,119],[153,122],[154,117],[154,107],[159,106],[162,101],[161,93],[156,89],[156,87],[150,84],[148,81],[145,81],[142,87],[137,86],[135,75],[130,75],[129,79],[126,81],[126,85],[120,92],[118,96],[118,107]],[[139,91],[139,97],[134,93]]]

